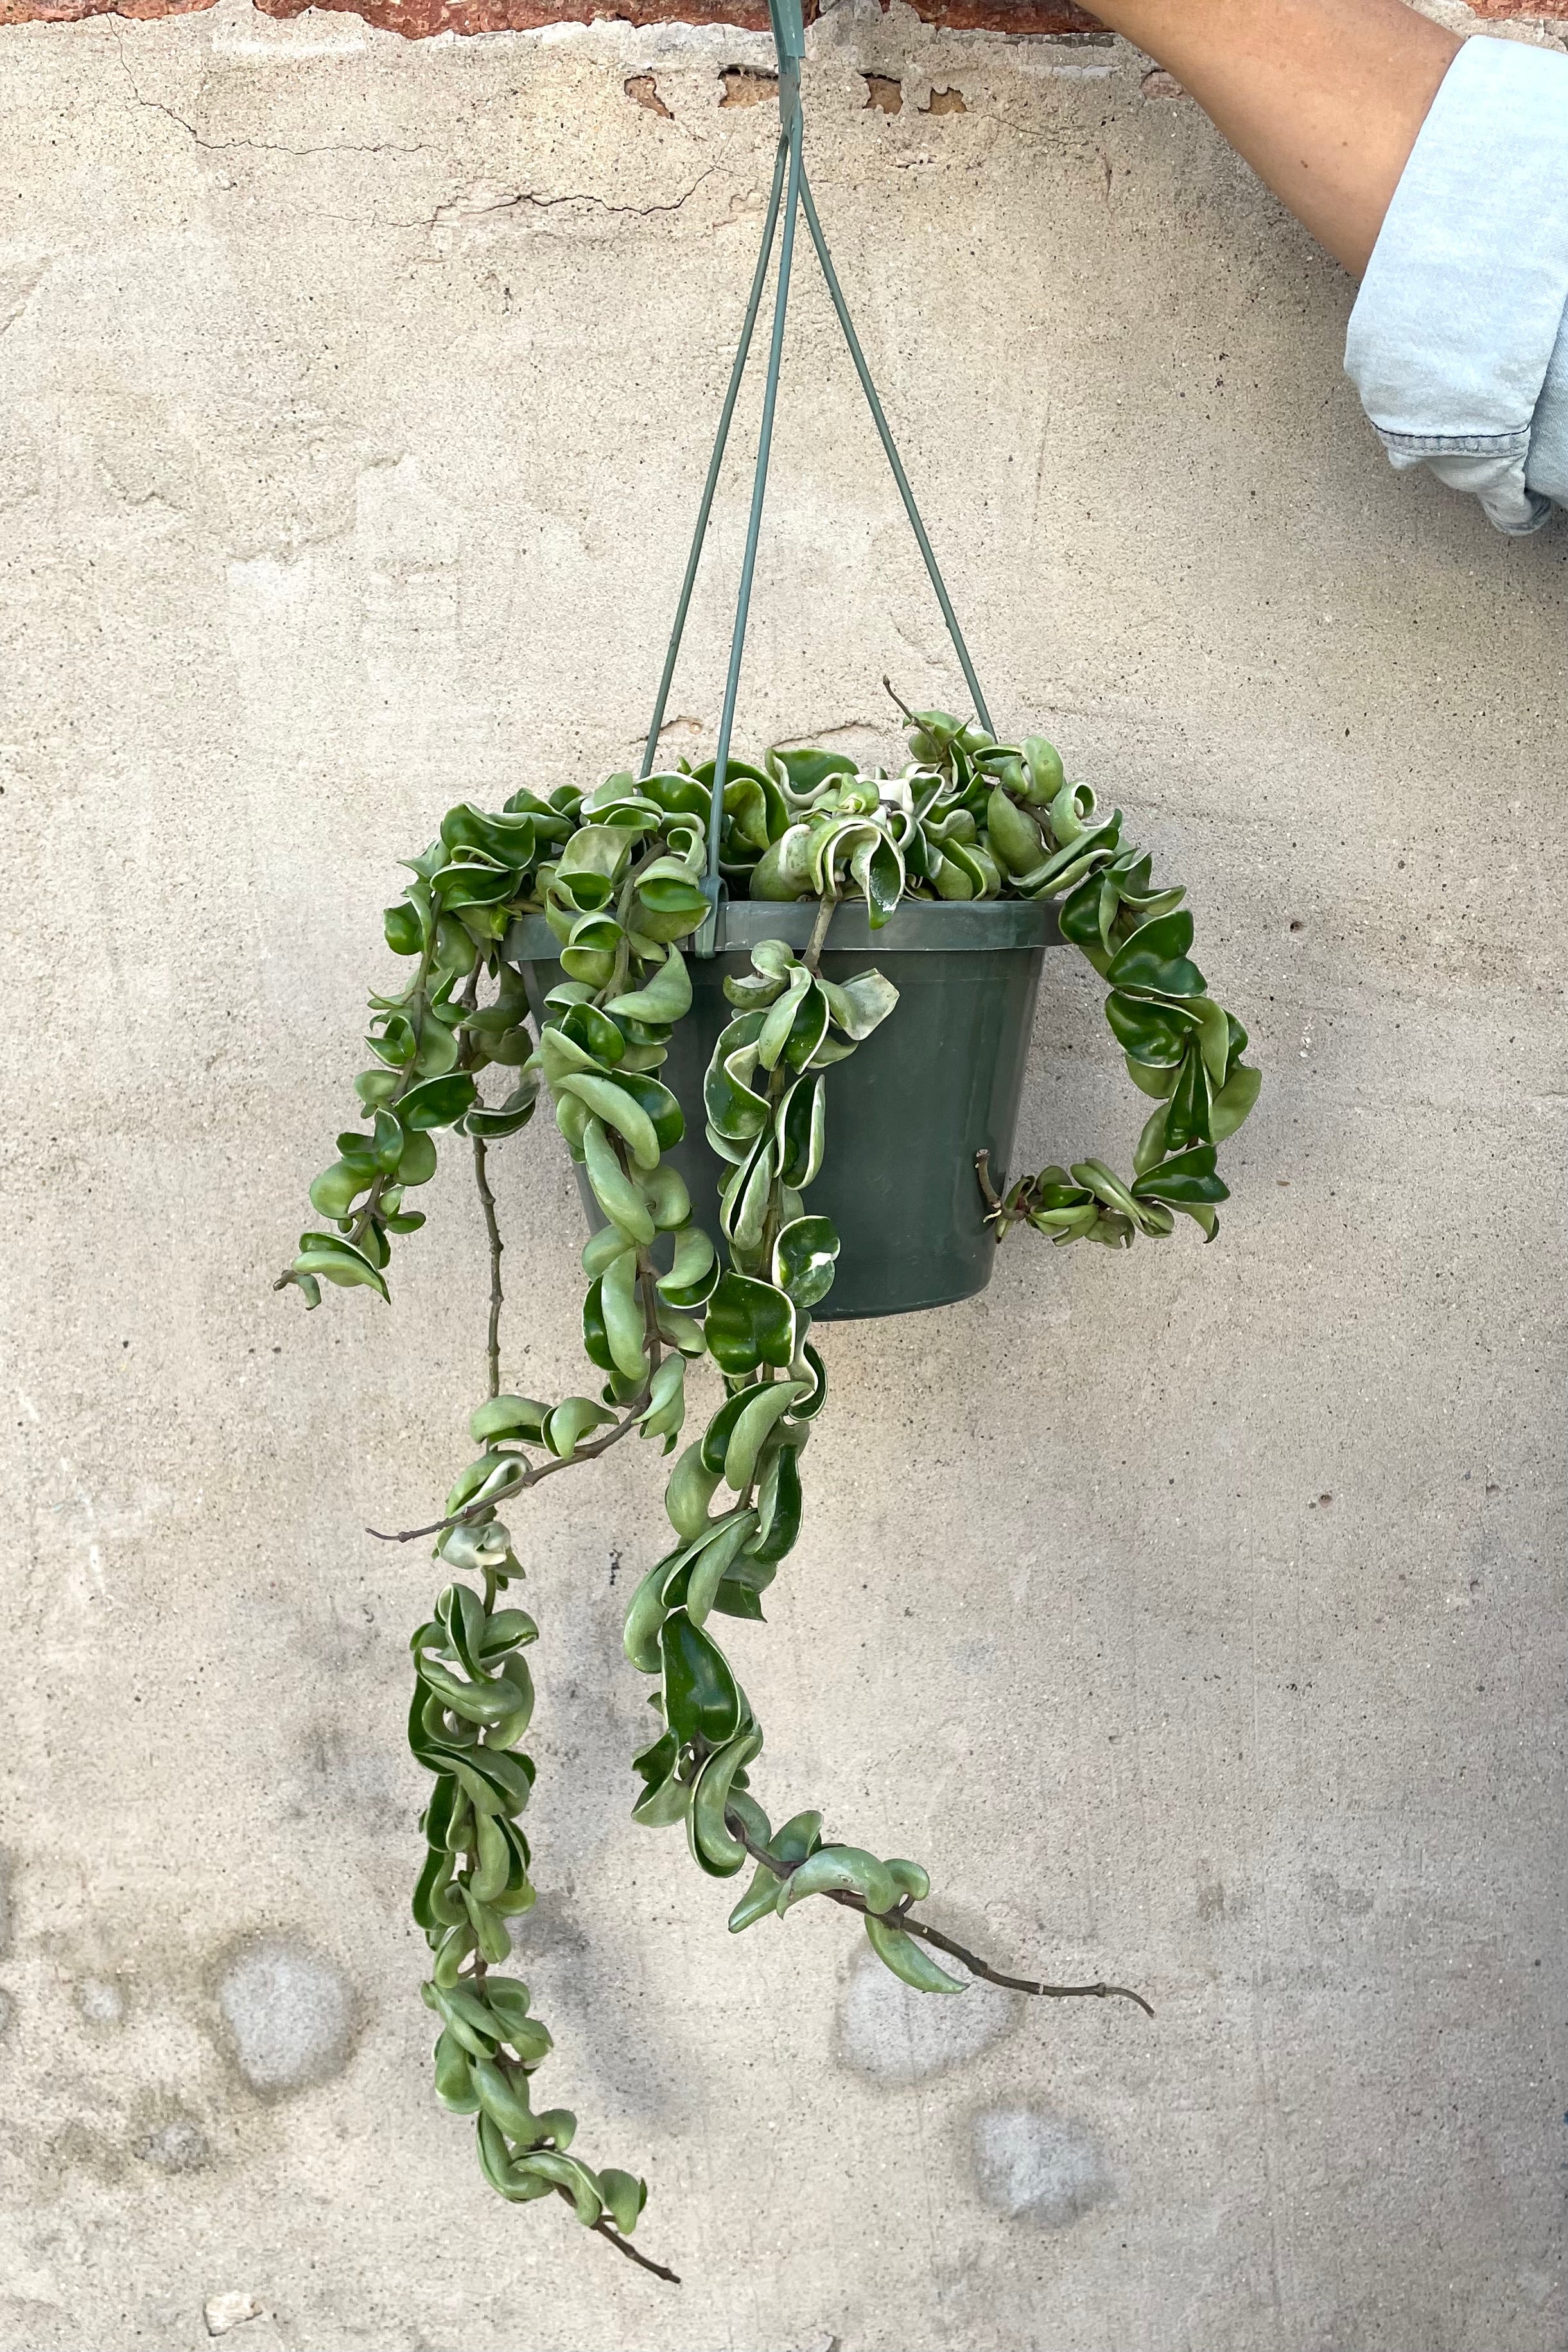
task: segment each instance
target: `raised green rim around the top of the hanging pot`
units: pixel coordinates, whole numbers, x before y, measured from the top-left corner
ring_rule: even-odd
[[[783,938],[804,948],[816,922],[816,898],[724,898],[719,903],[717,955],[755,948],[759,938]],[[1018,948],[1065,948],[1056,906],[1046,898],[905,898],[872,931],[863,898],[844,898],[827,924],[827,955],[994,955]],[[691,955],[691,948],[684,950]],[[520,915],[501,943],[508,964],[557,964],[562,941],[543,915]]]

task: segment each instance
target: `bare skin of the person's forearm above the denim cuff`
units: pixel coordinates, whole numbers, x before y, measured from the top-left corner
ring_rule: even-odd
[[[1403,0],[1093,0],[1361,275],[1460,35]]]

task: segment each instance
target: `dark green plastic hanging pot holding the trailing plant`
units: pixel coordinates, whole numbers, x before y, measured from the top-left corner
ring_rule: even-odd
[[[759,938],[802,950],[813,920],[813,903],[726,901],[719,953],[686,960],[691,1011],[675,1028],[661,1077],[689,1124],[665,1157],[682,1171],[715,1244],[724,1162],[708,1145],[701,1105],[719,1030],[736,1018],[724,978],[750,971]],[[985,1225],[976,1152],[987,1150],[994,1174],[1006,1174],[1039,969],[1056,946],[1063,938],[1053,910],[1027,898],[912,901],[879,931],[860,903],[835,913],[823,976],[846,981],[875,962],[898,990],[898,1009],[856,1051],[849,1080],[827,1073],[827,1160],[806,1207],[832,1218],[844,1254],[832,1291],[811,1310],[816,1322],[945,1308],[990,1282],[997,1244]],[[522,969],[538,1018],[562,976],[559,943],[543,915],[512,924],[503,953]],[[590,1223],[602,1225],[581,1171],[578,1188]]]

